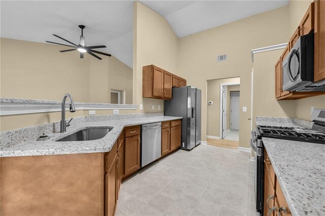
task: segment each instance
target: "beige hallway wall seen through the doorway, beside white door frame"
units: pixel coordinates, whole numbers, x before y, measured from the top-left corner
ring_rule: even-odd
[[[239,82],[240,78],[207,81],[207,101],[213,101],[212,105],[207,105],[207,135],[217,137],[220,136],[220,84]],[[229,88],[230,86],[227,86],[226,89],[228,90],[226,91],[229,92]]]

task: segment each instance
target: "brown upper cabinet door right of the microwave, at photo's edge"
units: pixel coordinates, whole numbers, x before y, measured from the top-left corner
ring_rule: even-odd
[[[315,1],[314,81],[325,79],[325,1]]]

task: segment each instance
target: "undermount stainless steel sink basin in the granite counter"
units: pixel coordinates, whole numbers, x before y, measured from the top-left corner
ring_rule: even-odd
[[[106,134],[108,134],[113,128],[105,127],[105,128],[89,128],[79,130],[69,136],[63,137],[56,141],[88,141],[88,140],[95,140],[101,139]]]

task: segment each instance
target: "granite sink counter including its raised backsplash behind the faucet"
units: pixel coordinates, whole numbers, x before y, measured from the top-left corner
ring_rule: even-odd
[[[21,128],[0,133],[0,157],[59,155],[109,152],[118,136],[126,126],[148,124],[181,119],[181,117],[163,116],[163,114],[127,114],[107,116],[85,116],[74,119],[66,133],[59,133],[59,122],[41,126]],[[93,127],[113,128],[102,139],[90,141],[60,141],[82,129]],[[36,141],[45,132],[50,139]]]

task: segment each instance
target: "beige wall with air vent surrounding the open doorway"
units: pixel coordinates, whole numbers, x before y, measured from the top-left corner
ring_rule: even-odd
[[[283,20],[288,20],[288,6],[179,39],[180,76],[187,79],[188,85],[202,89],[202,98],[207,97],[207,80],[240,77],[240,106],[247,106],[247,112],[240,113],[240,147],[249,148],[253,66],[250,51],[287,41],[287,22]],[[222,54],[227,54],[228,60],[216,62],[217,55]],[[206,125],[207,105],[203,99],[203,140]]]

